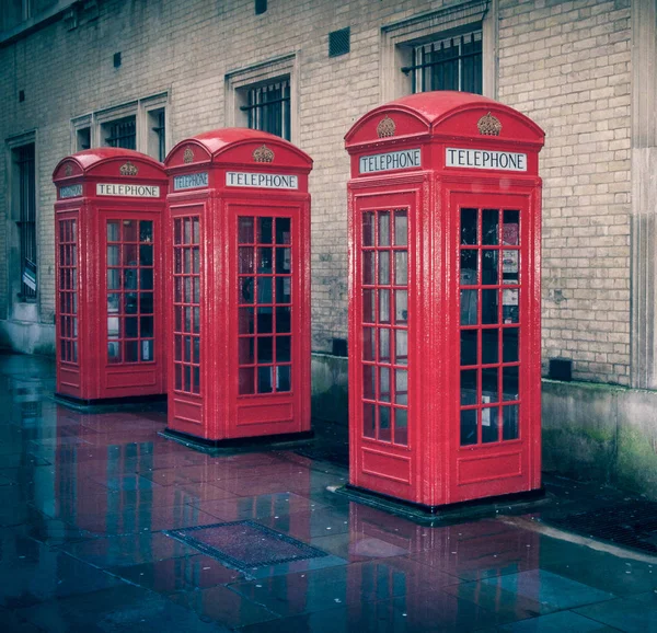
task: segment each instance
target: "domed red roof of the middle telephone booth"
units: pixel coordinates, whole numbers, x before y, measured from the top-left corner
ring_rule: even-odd
[[[219,128],[182,140],[169,152],[164,164],[166,169],[204,163],[253,165],[253,152],[263,146],[275,151],[273,159],[261,161],[261,165],[285,165],[307,172],[312,169],[312,159],[291,142],[273,134],[245,127]]]

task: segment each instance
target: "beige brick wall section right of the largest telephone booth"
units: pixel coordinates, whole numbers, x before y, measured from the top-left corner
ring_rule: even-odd
[[[630,381],[630,0],[500,0],[499,100],[545,130],[543,358]]]

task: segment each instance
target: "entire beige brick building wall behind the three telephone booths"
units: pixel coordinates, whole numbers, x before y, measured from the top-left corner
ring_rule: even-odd
[[[544,357],[581,379],[626,383],[630,344],[629,1],[499,0],[499,100],[546,131]],[[224,76],[296,53],[298,145],[314,159],[313,349],[346,336],[344,134],[379,104],[381,27],[441,1],[106,0],[73,31],[55,22],[0,47],[0,139],[37,131],[42,320],[54,311],[51,171],[70,152],[70,119],[166,91],[170,142],[224,124]],[[453,4],[453,2],[446,2]],[[351,53],[328,58],[350,26]],[[113,67],[114,53],[123,65]],[[18,91],[26,100],[18,102]],[[0,187],[5,185],[0,153]],[[0,222],[7,219],[0,196]],[[2,249],[0,231],[0,249]],[[0,257],[0,316],[7,267]]]

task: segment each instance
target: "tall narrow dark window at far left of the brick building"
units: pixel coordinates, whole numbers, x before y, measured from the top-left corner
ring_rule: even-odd
[[[14,164],[15,218],[19,232],[20,292],[21,299],[36,298],[36,181],[34,143],[12,150]]]

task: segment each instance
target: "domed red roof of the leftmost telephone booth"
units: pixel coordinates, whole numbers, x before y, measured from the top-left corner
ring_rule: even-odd
[[[122,168],[131,163],[136,173],[122,172]],[[116,168],[114,166],[116,165]],[[134,171],[134,170],[131,170]],[[53,172],[53,181],[66,181],[80,176],[110,176],[164,180],[164,165],[141,152],[115,148],[99,147],[79,151],[59,161]]]

